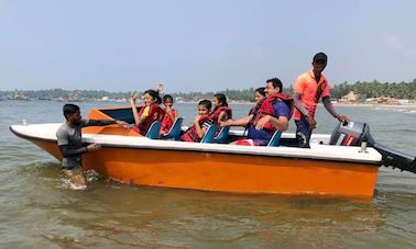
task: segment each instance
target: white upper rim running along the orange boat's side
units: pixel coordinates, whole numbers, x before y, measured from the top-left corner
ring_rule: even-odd
[[[56,142],[56,131],[61,123],[12,125],[10,129],[19,136]],[[242,131],[232,131],[231,134],[239,135]],[[283,138],[294,137],[294,134],[283,134]],[[178,151],[201,151],[238,154],[267,157],[305,158],[317,160],[365,162],[377,165],[382,160],[382,155],[373,148],[368,148],[366,152],[360,152],[360,147],[355,146],[331,146],[320,144],[327,143],[329,135],[314,135],[310,149],[296,147],[265,147],[265,146],[237,146],[223,144],[199,144],[174,140],[155,140],[146,137],[131,137],[105,134],[83,134],[84,143],[97,143],[103,147],[123,148],[150,148]]]

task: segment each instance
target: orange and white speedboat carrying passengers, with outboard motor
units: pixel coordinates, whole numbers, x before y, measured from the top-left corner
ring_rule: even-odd
[[[88,118],[133,123],[129,106],[92,109]],[[62,160],[59,125],[12,125],[10,131]],[[184,131],[180,124],[175,127]],[[381,166],[416,173],[414,156],[375,143],[364,123],[339,124],[331,135],[313,135],[309,149],[296,147],[295,134],[288,133],[276,133],[271,146],[229,145],[244,132],[227,132],[222,143],[185,143],[175,139],[180,132],[162,139],[158,131],[156,136],[141,136],[117,125],[85,127],[83,143],[102,148],[84,154],[83,168],[136,185],[347,197],[372,197]]]

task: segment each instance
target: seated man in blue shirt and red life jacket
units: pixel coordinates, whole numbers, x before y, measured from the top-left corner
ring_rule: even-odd
[[[274,132],[286,131],[292,116],[293,99],[282,93],[282,81],[277,78],[266,81],[267,98],[249,116],[237,121],[221,122],[220,126],[248,126],[247,139],[237,140],[234,145],[267,145]]]

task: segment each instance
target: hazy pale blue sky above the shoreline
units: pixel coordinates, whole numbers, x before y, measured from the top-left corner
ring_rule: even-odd
[[[0,90],[284,87],[416,79],[416,1],[0,0]]]

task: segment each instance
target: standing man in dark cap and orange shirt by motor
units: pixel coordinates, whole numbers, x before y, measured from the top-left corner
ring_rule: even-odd
[[[328,57],[324,53],[318,53],[313,59],[313,69],[300,75],[294,87],[296,123],[296,139],[302,148],[309,148],[309,139],[314,128],[316,128],[315,111],[319,99],[322,98],[325,109],[339,122],[348,123],[349,118],[339,115],[331,103],[329,95],[329,83],[322,71],[327,66]]]

